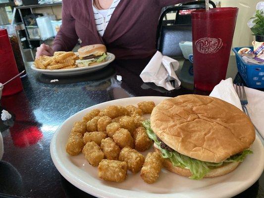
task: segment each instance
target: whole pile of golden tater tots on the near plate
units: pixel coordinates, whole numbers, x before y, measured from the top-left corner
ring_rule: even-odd
[[[128,105],[93,109],[83,120],[75,122],[66,145],[66,152],[78,155],[98,166],[98,176],[106,181],[122,182],[127,171],[137,173],[146,183],[158,179],[162,166],[159,152],[149,152],[145,158],[139,151],[153,145],[142,122],[143,114],[150,114],[153,101],[139,102],[138,107]]]

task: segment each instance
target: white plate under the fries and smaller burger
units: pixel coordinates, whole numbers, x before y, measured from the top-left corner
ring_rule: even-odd
[[[50,76],[74,76],[80,74],[91,73],[106,67],[110,62],[114,61],[115,56],[112,53],[107,52],[106,62],[102,62],[98,65],[88,66],[88,67],[76,67],[72,69],[38,69],[34,64],[31,65],[31,69],[38,71],[40,73],[50,75]]]

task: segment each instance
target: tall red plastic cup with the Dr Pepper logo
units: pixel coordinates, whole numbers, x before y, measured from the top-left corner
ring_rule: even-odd
[[[194,86],[211,91],[225,79],[237,7],[192,11]]]

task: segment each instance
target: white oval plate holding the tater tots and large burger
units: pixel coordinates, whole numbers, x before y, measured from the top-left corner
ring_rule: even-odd
[[[144,183],[139,173],[132,174],[130,171],[122,183],[106,182],[98,178],[97,167],[91,166],[82,153],[70,156],[65,152],[73,123],[81,120],[88,111],[103,109],[108,105],[136,105],[140,101],[158,104],[163,99],[166,97],[111,100],[84,109],[65,120],[51,142],[51,156],[60,174],[77,188],[99,198],[230,198],[245,191],[259,179],[264,169],[264,148],[257,136],[251,148],[254,153],[248,155],[237,169],[227,175],[198,181],[162,169],[154,184]]]

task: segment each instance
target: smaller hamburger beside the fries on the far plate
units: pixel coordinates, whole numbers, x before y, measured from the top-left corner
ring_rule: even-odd
[[[100,64],[106,61],[106,46],[102,44],[84,46],[78,49],[79,60],[76,60],[78,67],[87,67]]]

